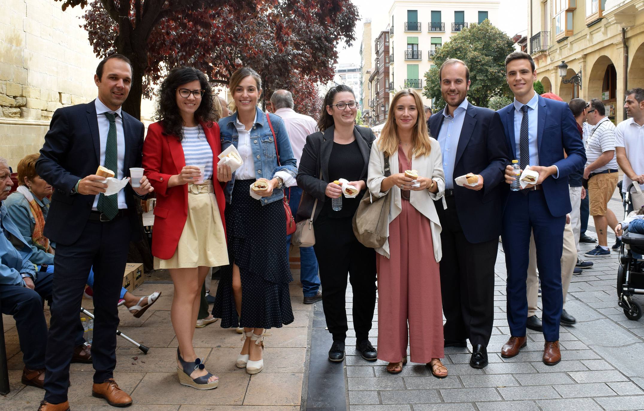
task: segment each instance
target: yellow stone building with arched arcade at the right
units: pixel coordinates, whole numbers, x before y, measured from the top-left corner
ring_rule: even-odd
[[[599,98],[615,122],[624,94],[644,87],[644,2],[530,0],[528,53],[545,91],[564,101]]]

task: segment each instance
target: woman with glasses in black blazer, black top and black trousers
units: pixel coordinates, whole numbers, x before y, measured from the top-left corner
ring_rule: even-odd
[[[377,359],[377,352],[368,339],[375,307],[375,251],[357,241],[351,223],[366,190],[369,154],[375,136],[371,129],[355,125],[356,114],[357,102],[351,87],[341,85],[329,89],[317,122],[320,132],[307,137],[297,176],[298,187],[304,191],[298,210],[300,219],[310,217],[313,203],[318,200],[314,249],[327,327],[333,334],[328,359],[334,362],[345,358],[347,272],[354,289],[356,349],[367,361]],[[342,209],[334,211],[331,199],[340,197],[342,192],[333,181],[340,178],[357,187],[360,194],[355,198],[343,197]]]

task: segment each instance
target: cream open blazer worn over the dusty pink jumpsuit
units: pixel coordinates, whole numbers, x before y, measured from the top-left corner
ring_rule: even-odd
[[[371,155],[369,157],[369,174],[366,180],[366,185],[372,196],[382,197],[387,192],[380,191],[380,185],[384,179],[384,153],[378,148],[378,140],[374,140],[371,146]],[[445,194],[445,173],[442,169],[442,156],[440,154],[440,145],[439,142],[430,138],[431,143],[431,152],[429,156],[422,157],[413,157],[412,156],[412,167],[414,170],[418,170],[418,175],[421,177],[431,177],[439,187],[439,190],[436,194],[430,193],[428,190],[421,191],[410,191],[410,203],[412,206],[421,212],[422,215],[430,219],[431,225],[431,241],[434,246],[434,258],[437,262],[440,261],[442,257],[442,250],[440,248],[440,232],[442,228],[440,227],[439,216],[436,213],[436,208],[434,207],[434,202],[432,200],[437,200],[443,197]],[[389,158],[389,167],[392,174],[397,174],[398,172],[398,156],[392,156]],[[393,190],[392,195],[389,196],[389,201],[391,202],[391,208],[389,209],[389,218],[387,224],[390,224],[395,217],[401,214],[403,211],[403,198],[401,197],[401,188],[392,187],[390,190]],[[443,208],[447,208],[445,200],[442,200]],[[387,236],[389,236],[389,226],[387,226]],[[422,244],[421,244],[422,246]],[[422,249],[421,249],[422,250]],[[389,258],[389,240],[384,242],[384,245],[381,248],[376,248],[375,251],[384,257]]]

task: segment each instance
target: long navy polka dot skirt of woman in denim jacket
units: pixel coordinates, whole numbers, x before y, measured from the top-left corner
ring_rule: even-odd
[[[249,196],[254,179],[236,180],[232,204],[226,205],[226,237],[231,264],[220,270],[213,316],[223,328],[281,327],[293,322],[290,306],[289,261],[286,254],[286,216],[282,201],[262,206]],[[240,268],[242,318],[237,320],[232,293],[232,263]]]

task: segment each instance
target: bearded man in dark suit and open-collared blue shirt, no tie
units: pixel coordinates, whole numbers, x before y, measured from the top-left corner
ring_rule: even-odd
[[[442,232],[440,293],[445,347],[472,344],[469,364],[488,365],[488,342],[494,320],[494,264],[501,210],[508,187],[503,184],[509,153],[497,113],[467,100],[469,69],[461,60],[440,66],[440,89],[447,102],[431,116],[430,130],[442,151],[445,201],[437,201]],[[475,186],[459,186],[454,179],[472,173]]]

